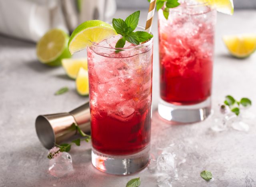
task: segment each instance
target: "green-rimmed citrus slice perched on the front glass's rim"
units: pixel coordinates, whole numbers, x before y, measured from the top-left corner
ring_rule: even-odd
[[[89,20],[80,24],[70,36],[68,50],[71,54],[87,48],[91,42],[101,42],[117,35],[114,28],[100,20]]]

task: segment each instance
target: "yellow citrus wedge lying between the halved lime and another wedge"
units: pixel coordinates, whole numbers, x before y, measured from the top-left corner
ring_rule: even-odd
[[[64,58],[61,62],[66,74],[72,79],[76,79],[81,67],[88,70],[86,58]]]

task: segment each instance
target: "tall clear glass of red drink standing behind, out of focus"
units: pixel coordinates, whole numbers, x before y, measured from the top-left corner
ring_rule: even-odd
[[[211,110],[216,11],[185,0],[158,11],[160,102],[158,113],[168,121],[193,123]]]

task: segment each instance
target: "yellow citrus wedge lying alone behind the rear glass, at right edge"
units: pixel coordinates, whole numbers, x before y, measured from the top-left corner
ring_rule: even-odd
[[[226,35],[223,41],[237,58],[246,58],[256,50],[256,34]]]

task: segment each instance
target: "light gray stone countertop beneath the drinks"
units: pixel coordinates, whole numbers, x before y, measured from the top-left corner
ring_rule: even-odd
[[[114,17],[125,18],[133,10],[119,10]],[[141,13],[144,25],[147,11]],[[186,162],[179,165],[179,180],[173,187],[253,187],[256,186],[256,124],[247,120],[249,131],[228,128],[214,132],[218,104],[225,95],[249,97],[250,112],[256,113],[256,54],[245,60],[229,56],[222,42],[223,34],[256,33],[256,11],[240,10],[234,16],[218,14],[212,108],[206,121],[189,125],[170,125],[157,114],[159,97],[157,19],[154,19],[154,80],[152,116],[152,156],[168,145],[184,145]],[[85,56],[80,52],[74,57]],[[68,86],[70,92],[55,96]],[[0,36],[0,187],[124,187],[132,178],[141,178],[141,187],[157,186],[158,174],[146,169],[129,176],[108,175],[91,162],[90,143],[73,146],[70,154],[74,173],[55,178],[48,173],[47,150],[41,145],[34,127],[39,114],[70,111],[88,100],[79,96],[75,82],[64,70],[50,68],[36,60],[35,44]],[[213,173],[214,180],[204,181],[200,172]]]

